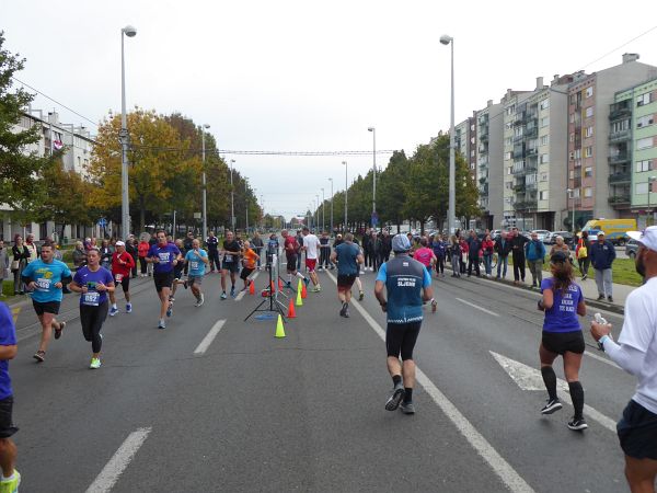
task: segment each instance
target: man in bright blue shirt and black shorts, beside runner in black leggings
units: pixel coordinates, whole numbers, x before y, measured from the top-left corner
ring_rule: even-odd
[[[46,358],[46,349],[50,342],[53,329],[55,339],[61,336],[66,322],[58,322],[55,316],[61,305],[61,288],[71,282],[71,271],[60,261],[53,259],[53,245],[44,243],[41,259],[30,262],[21,275],[23,283],[32,290],[32,305],[42,324],[42,337],[34,359],[42,363]]]

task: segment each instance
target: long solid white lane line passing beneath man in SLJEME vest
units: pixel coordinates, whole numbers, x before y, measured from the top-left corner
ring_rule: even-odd
[[[331,280],[337,284],[336,278],[331,273],[326,273]],[[379,334],[379,336],[385,341],[385,331],[379,323],[367,312],[362,306],[353,301],[356,310],[365,318],[367,323]],[[440,410],[447,415],[447,417],[454,424],[457,429],[461,432],[463,437],[470,443],[470,445],[477,451],[477,454],[491,466],[493,471],[499,477],[505,485],[512,492],[533,492],[533,489],[522,479],[518,472],[508,463],[504,457],[502,457],[495,448],[484,438],[484,436],[476,431],[476,428],[468,421],[468,419],[457,409],[454,404],[434,385],[434,382],[427,377],[424,371],[416,366],[416,380],[420,386],[424,387],[427,394],[434,400],[434,402],[440,408]]]

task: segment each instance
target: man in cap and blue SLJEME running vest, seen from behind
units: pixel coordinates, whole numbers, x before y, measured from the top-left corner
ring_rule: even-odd
[[[377,275],[374,295],[381,309],[388,313],[385,348],[388,371],[394,388],[385,402],[388,411],[400,406],[404,414],[415,414],[413,388],[415,387],[415,362],[413,348],[422,326],[423,301],[434,300],[431,275],[426,267],[408,256],[411,242],[403,234],[392,239],[394,259],[381,265]],[[383,289],[388,293],[388,300]],[[400,356],[402,364],[400,364]],[[402,379],[403,377],[403,379]]]

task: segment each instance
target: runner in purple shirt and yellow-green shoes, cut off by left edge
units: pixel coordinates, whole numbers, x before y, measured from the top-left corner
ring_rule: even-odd
[[[9,360],[16,356],[16,328],[9,307],[0,302],[0,467],[2,480],[0,491],[19,491],[21,474],[14,469],[16,446],[11,436],[19,431],[13,425],[13,390],[9,376]]]

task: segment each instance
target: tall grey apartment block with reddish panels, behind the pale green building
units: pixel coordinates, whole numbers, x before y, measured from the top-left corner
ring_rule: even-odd
[[[621,65],[591,74],[578,72],[568,87],[567,204],[574,209],[576,229],[592,218],[632,214],[632,180],[623,174],[632,162],[625,131],[630,128],[622,127],[627,110],[615,104],[619,91],[657,78],[656,67],[637,60],[638,55],[624,54]]]

